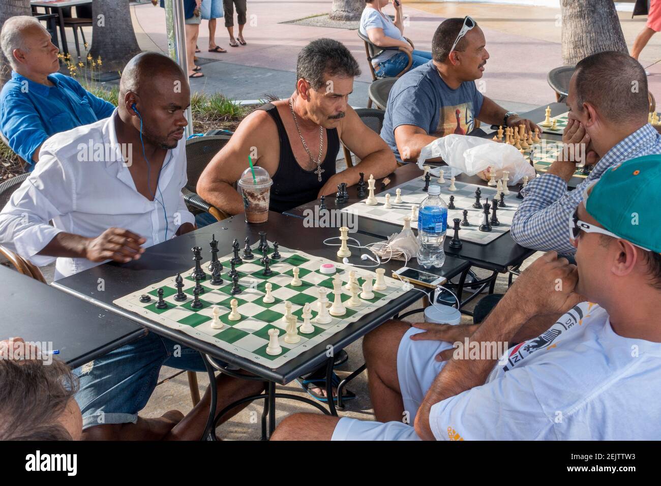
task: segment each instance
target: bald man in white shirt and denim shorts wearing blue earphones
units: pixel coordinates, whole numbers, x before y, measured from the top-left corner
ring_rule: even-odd
[[[139,259],[144,247],[194,229],[181,194],[189,104],[186,77],[174,61],[149,52],[133,58],[110,118],[44,142],[36,169],[0,213],[0,244],[37,265],[57,259],[61,278],[108,260]],[[155,333],[74,370],[82,438],[198,440],[209,389],[186,417],[178,411],[159,419],[137,415],[163,364],[206,371],[199,352]],[[264,389],[262,382],[226,375],[217,385],[218,410]]]

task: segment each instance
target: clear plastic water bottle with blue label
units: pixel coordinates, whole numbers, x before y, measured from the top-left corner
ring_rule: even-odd
[[[440,194],[440,186],[429,186],[418,208],[418,264],[423,268],[441,268],[446,261],[447,204]]]

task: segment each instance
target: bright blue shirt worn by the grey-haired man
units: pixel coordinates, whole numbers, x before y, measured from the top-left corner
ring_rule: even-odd
[[[32,153],[59,132],[108,118],[114,106],[60,73],[48,76],[54,86],[12,72],[0,93],[0,131],[9,147],[34,169]]]

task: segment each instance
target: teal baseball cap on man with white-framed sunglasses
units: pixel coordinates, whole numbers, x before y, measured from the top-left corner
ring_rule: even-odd
[[[585,205],[611,233],[661,253],[661,155],[636,157],[607,169],[586,194]]]

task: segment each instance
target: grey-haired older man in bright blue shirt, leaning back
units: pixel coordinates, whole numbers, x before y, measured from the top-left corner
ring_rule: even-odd
[[[0,131],[27,171],[50,136],[108,118],[114,106],[58,73],[58,48],[33,17],[11,17],[0,32],[11,80],[0,93]]]

